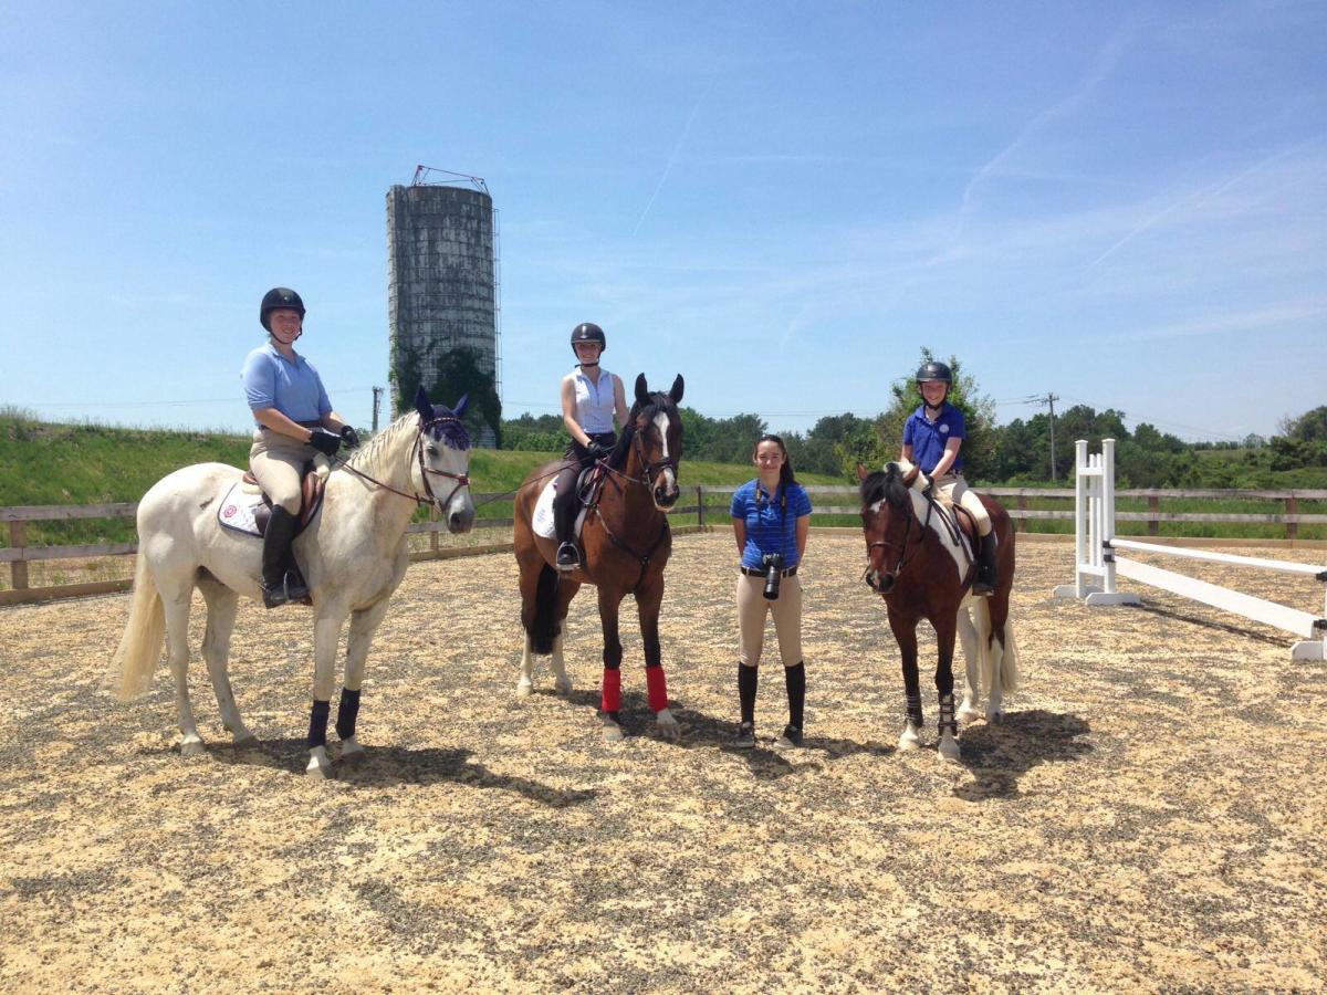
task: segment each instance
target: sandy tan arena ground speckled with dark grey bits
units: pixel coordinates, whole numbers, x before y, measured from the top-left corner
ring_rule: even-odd
[[[860,536],[812,536],[808,738],[791,755],[770,748],[776,658],[762,744],[726,748],[723,535],[679,537],[667,568],[679,743],[652,732],[633,626],[634,735],[602,742],[592,597],[572,606],[571,698],[541,667],[518,702],[512,557],[422,563],[370,657],[368,755],[328,783],[303,775],[303,609],[240,610],[232,679],[261,743],[238,750],[195,602],[210,746],[187,759],[165,669],[129,704],[98,690],[127,596],[3,609],[0,987],[1320,990],[1327,669],[1161,592],[1137,588],[1141,609],[1052,600],[1072,547],[1019,556],[1024,685],[1002,726],[963,731],[961,765],[934,751],[925,669],[932,746],[894,751],[898,655]],[[1322,605],[1311,580],[1168,565]]]

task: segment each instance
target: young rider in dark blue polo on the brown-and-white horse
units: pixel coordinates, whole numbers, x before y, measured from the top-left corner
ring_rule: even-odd
[[[942,362],[925,362],[917,370],[917,390],[921,407],[908,415],[904,423],[902,458],[916,464],[930,478],[930,487],[945,495],[953,504],[962,504],[971,513],[981,537],[977,555],[974,594],[995,590],[995,536],[986,505],[963,480],[963,458],[959,447],[967,438],[963,413],[946,399],[954,374]]]

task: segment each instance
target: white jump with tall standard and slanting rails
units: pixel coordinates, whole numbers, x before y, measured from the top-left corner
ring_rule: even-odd
[[[1119,549],[1141,553],[1160,553],[1189,560],[1209,560],[1261,570],[1299,573],[1327,581],[1327,569],[1283,560],[1262,560],[1251,556],[1213,553],[1202,549],[1184,549],[1157,543],[1140,543],[1115,536],[1115,439],[1103,439],[1101,451],[1089,455],[1087,442],[1075,443],[1074,494],[1074,584],[1055,588],[1055,597],[1083,598],[1087,605],[1137,605],[1137,594],[1115,589],[1116,573],[1140,584],[1161,588],[1205,605],[1251,618],[1257,622],[1285,629],[1302,637],[1290,650],[1291,659],[1327,659],[1327,594],[1323,614],[1300,612],[1275,601],[1265,601],[1251,594],[1241,594],[1216,584],[1162,570],[1119,556]]]

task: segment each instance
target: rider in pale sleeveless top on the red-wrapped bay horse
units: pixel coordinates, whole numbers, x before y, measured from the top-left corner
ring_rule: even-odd
[[[553,527],[557,533],[557,569],[575,570],[581,565],[580,549],[572,539],[576,525],[576,478],[591,460],[604,459],[613,451],[617,425],[626,425],[626,394],[622,381],[598,365],[598,357],[608,349],[604,329],[592,322],[581,322],[572,329],[572,352],[576,369],[563,377],[563,423],[572,440],[567,447],[567,466],[557,475],[557,496],[553,499]]]

